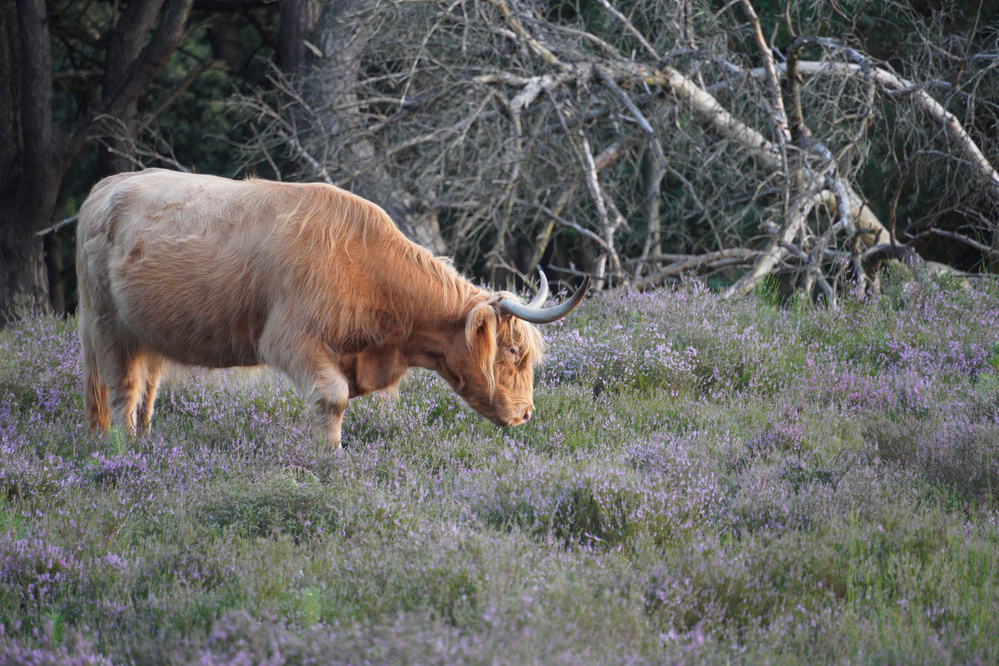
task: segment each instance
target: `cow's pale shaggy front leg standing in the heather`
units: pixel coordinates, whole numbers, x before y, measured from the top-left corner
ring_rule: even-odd
[[[289,341],[268,337],[266,331],[261,336],[263,360],[288,375],[305,395],[312,407],[313,437],[339,449],[350,385],[329,348],[313,338]]]

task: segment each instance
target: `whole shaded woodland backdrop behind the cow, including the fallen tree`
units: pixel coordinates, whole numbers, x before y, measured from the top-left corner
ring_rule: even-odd
[[[889,260],[994,273],[997,27],[982,2],[17,0],[0,311],[73,309],[73,215],[142,166],[347,188],[498,286],[835,307]]]

